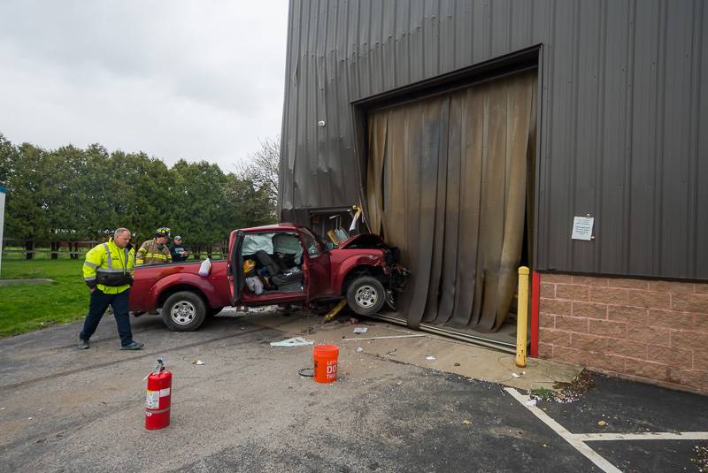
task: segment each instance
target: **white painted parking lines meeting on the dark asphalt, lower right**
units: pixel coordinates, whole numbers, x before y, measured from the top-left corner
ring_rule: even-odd
[[[543,423],[548,425],[553,431],[558,433],[560,437],[565,439],[566,442],[575,447],[578,452],[585,455],[590,462],[595,463],[597,468],[606,472],[615,473],[620,470],[612,465],[612,463],[605,460],[602,455],[587,446],[585,442],[597,440],[708,440],[708,432],[571,433],[567,431],[564,426],[543,412],[543,409],[537,408],[536,406],[527,406],[526,401],[531,399],[530,396],[525,396],[512,387],[505,387],[504,390],[512,394],[516,401],[519,401],[522,406],[534,413]]]

